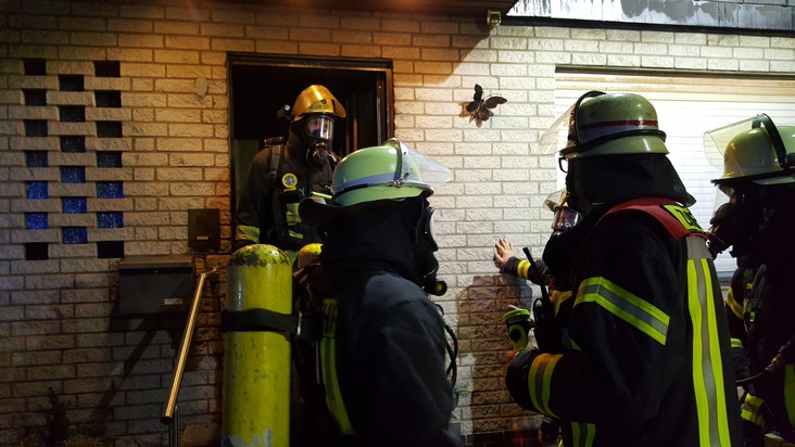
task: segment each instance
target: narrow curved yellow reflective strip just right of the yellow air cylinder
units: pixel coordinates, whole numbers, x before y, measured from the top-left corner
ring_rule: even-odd
[[[342,400],[340,382],[337,376],[337,301],[323,301],[324,328],[320,339],[320,374],[326,391],[326,406],[343,434],[354,434]]]

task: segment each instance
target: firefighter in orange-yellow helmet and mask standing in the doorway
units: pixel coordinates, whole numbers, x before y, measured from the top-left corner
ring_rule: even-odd
[[[331,193],[335,125],[345,108],[326,87],[313,85],[279,115],[291,120],[287,141],[267,140],[254,156],[238,199],[234,246],[270,244],[294,257],[302,246],[321,242],[298,206],[313,192]]]

